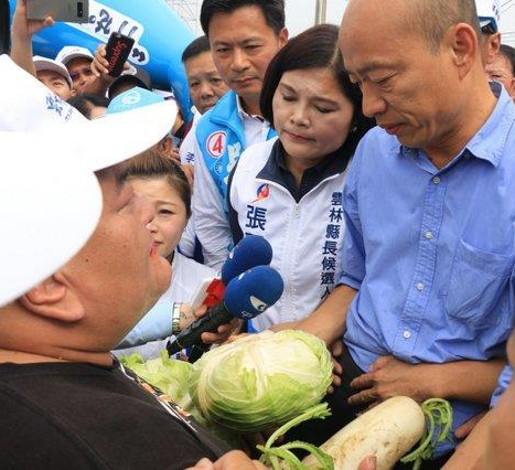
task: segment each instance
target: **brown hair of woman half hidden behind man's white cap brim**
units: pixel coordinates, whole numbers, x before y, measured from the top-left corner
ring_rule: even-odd
[[[181,165],[175,161],[161,157],[155,150],[146,150],[129,160],[122,179],[138,178],[142,180],[162,179],[175,190],[186,207],[186,216],[191,216],[191,188]]]

